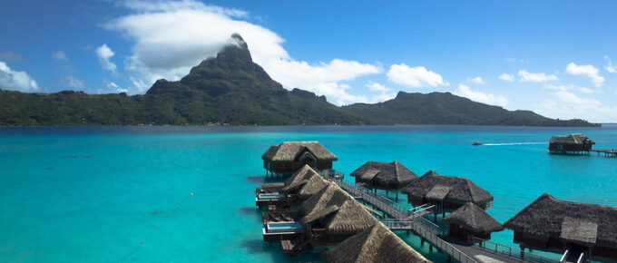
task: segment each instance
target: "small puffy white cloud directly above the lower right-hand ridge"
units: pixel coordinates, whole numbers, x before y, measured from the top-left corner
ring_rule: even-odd
[[[405,63],[391,65],[387,71],[387,78],[393,83],[412,88],[448,85],[440,74],[428,71],[423,66],[410,67]]]

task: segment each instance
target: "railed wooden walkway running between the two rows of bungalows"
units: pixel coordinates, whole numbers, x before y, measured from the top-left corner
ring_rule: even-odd
[[[361,187],[358,187],[356,184],[334,180],[338,186],[346,190],[351,196],[364,200],[369,203],[375,209],[379,209],[387,214],[388,217],[393,220],[385,220],[382,221],[388,229],[391,230],[406,230],[413,232],[416,236],[420,237],[422,240],[422,244],[424,242],[428,242],[429,248],[432,251],[433,248],[436,248],[439,253],[446,254],[449,260],[454,259],[457,262],[464,263],[478,263],[478,262],[507,262],[507,263],[519,263],[519,262],[553,262],[552,259],[543,260],[534,260],[535,258],[530,258],[534,256],[531,253],[524,253],[524,258],[520,256],[520,250],[516,250],[514,248],[505,247],[503,245],[495,244],[495,249],[491,249],[490,247],[480,248],[478,246],[470,246],[470,245],[462,245],[452,242],[452,240],[446,240],[443,238],[442,229],[431,222],[430,220],[424,218],[424,215],[432,212],[438,212],[436,207],[427,207],[426,209],[416,209],[409,210],[404,207],[398,205],[396,202],[387,199],[386,197],[374,193],[371,190],[367,190]],[[481,243],[485,245],[485,243]],[[502,248],[509,248],[510,253],[503,253],[498,246]],[[519,251],[518,255],[516,253],[512,254],[512,250]],[[542,259],[542,258],[540,258]],[[557,260],[555,260],[558,262]]]

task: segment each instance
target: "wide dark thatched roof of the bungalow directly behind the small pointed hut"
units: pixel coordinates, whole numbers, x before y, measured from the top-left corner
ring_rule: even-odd
[[[441,195],[446,190],[446,196],[442,198]],[[473,202],[480,205],[493,200],[490,193],[477,186],[473,181],[461,177],[439,175],[433,170],[411,180],[401,192],[413,199],[433,198],[458,204]]]

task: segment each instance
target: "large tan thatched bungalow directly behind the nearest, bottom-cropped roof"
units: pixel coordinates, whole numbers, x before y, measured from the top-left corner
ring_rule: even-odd
[[[377,223],[367,210],[335,183],[302,203],[300,222],[313,247],[330,246]]]

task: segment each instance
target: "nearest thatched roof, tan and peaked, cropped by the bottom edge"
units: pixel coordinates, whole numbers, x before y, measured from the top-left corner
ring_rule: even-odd
[[[326,262],[430,262],[378,222],[322,254]]]

